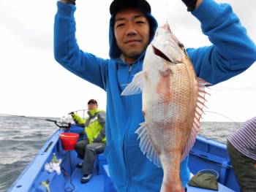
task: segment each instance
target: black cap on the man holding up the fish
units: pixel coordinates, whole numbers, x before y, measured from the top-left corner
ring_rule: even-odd
[[[113,0],[110,4],[110,14],[114,15],[116,12],[125,8],[138,8],[143,12],[151,13],[150,4],[146,0]]]

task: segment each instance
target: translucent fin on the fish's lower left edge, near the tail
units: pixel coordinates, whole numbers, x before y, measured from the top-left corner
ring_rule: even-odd
[[[157,155],[157,150],[155,150],[152,145],[151,139],[148,137],[148,132],[146,128],[146,123],[140,123],[140,128],[138,128],[135,133],[139,135],[140,138],[140,150],[143,154],[146,153],[147,158],[152,161],[158,167],[162,167],[159,156]]]

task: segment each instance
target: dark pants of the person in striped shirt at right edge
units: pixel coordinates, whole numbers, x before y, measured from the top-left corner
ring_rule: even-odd
[[[227,141],[227,152],[242,192],[256,191],[256,161],[236,150]]]

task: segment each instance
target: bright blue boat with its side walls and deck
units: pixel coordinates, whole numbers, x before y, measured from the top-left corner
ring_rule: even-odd
[[[79,133],[82,128],[72,126],[72,132]],[[115,192],[113,182],[108,174],[108,164],[105,156],[100,154],[94,166],[93,177],[89,183],[81,184],[82,174],[76,164],[80,163],[74,150],[65,151],[62,149],[59,135],[63,131],[56,131],[39,153],[24,169],[15,183],[12,184],[9,192],[26,191],[47,191],[41,185],[47,182],[50,191],[96,191],[96,192]],[[45,171],[45,164],[49,163],[56,153],[57,158],[61,158],[61,174]],[[189,169],[192,174],[196,174],[201,169],[214,169],[219,173],[219,191],[239,191],[238,183],[230,166],[226,146],[220,142],[213,141],[204,137],[198,137],[195,146],[189,155]],[[192,191],[211,191],[206,189],[188,186],[188,192]]]

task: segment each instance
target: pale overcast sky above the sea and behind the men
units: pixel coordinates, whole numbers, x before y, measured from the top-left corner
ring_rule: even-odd
[[[0,7],[0,113],[61,117],[86,107],[89,99],[105,109],[105,91],[80,79],[53,58],[53,19],[56,1],[1,1]],[[148,0],[159,25],[168,21],[185,47],[210,45],[200,23],[180,0]],[[111,0],[77,0],[77,39],[82,50],[108,58],[108,7]],[[256,42],[256,1],[222,0]],[[256,115],[256,65],[231,80],[211,87],[208,111],[235,121]],[[204,120],[227,118],[206,112]]]

